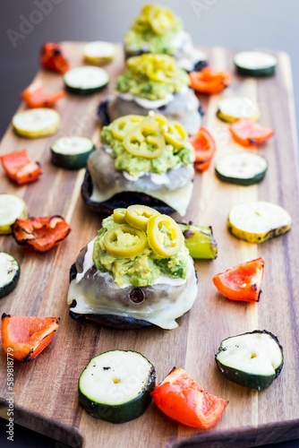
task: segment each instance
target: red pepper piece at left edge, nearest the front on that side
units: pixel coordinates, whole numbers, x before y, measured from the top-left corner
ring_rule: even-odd
[[[37,358],[53,340],[60,317],[2,314],[2,345],[10,358],[21,362]]]

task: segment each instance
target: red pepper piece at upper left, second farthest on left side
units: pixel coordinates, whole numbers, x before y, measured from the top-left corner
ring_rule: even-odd
[[[65,91],[62,89],[54,93],[47,92],[39,81],[33,82],[21,92],[21,98],[29,108],[51,108],[58,99],[64,98],[64,96]]]

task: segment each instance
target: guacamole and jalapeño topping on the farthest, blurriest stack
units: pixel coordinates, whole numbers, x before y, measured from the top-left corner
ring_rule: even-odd
[[[160,4],[145,4],[124,35],[127,51],[174,55],[175,36],[183,29],[179,17]]]

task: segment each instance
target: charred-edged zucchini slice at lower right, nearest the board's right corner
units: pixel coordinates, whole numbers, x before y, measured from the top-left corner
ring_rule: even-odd
[[[222,340],[215,359],[227,380],[258,391],[269,387],[284,365],[278,338],[266,330]]]

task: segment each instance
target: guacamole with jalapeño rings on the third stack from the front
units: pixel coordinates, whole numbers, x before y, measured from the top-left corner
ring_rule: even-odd
[[[124,74],[117,78],[116,90],[156,100],[178,93],[188,85],[188,74],[177,67],[174,57],[145,54],[127,60]]]

